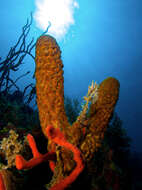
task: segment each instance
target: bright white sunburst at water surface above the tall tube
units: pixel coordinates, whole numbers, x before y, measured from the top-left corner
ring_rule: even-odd
[[[79,8],[75,0],[36,0],[34,19],[37,27],[45,31],[51,23],[48,33],[61,39],[74,24],[74,9]]]

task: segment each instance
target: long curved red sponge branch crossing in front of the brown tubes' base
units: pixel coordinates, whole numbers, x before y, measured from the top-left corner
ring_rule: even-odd
[[[59,128],[48,126],[46,128],[46,133],[51,141],[62,147],[67,148],[68,150],[71,150],[74,154],[73,159],[76,162],[75,169],[71,172],[69,176],[67,176],[65,179],[62,179],[59,183],[55,184],[53,187],[50,188],[50,190],[63,190],[67,188],[73,181],[75,181],[78,175],[84,169],[81,152],[77,147],[75,147],[73,144],[69,143],[66,140],[64,134],[60,131]]]

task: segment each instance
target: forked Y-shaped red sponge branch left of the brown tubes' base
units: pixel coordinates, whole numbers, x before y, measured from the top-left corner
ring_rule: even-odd
[[[36,146],[36,142],[32,135],[28,134],[27,139],[29,142],[29,146],[32,150],[33,158],[30,159],[29,161],[27,161],[23,158],[23,156],[17,155],[15,162],[16,162],[16,168],[18,170],[30,169],[30,168],[40,164],[41,162],[45,162],[48,160],[54,160],[54,161],[56,160],[55,152],[48,152],[46,154],[39,153],[37,146]]]

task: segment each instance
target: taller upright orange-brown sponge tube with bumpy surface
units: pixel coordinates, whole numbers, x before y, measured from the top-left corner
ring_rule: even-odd
[[[68,125],[64,110],[64,79],[61,51],[50,35],[36,43],[36,93],[40,124],[46,136],[48,125],[62,128]]]

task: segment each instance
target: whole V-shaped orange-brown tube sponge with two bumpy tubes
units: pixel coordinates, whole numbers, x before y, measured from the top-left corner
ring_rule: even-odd
[[[91,104],[87,118],[83,123],[77,120],[70,126],[64,109],[61,51],[56,40],[50,35],[41,36],[37,40],[35,61],[37,106],[44,135],[47,136],[45,129],[49,125],[61,129],[67,140],[80,148],[84,161],[89,162],[101,146],[113,114],[119,96],[119,81],[113,77],[105,79],[98,87],[97,101]],[[54,144],[48,141],[48,150],[53,151],[54,148]],[[64,168],[73,168],[71,159],[68,159],[71,158],[71,153],[64,148],[61,152]],[[66,170],[64,168],[62,171]]]

